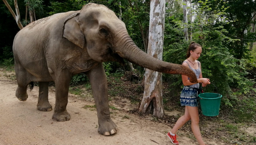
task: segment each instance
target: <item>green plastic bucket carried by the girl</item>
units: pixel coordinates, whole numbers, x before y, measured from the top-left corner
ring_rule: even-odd
[[[216,93],[201,93],[200,98],[201,110],[205,116],[219,115],[219,106],[222,95]]]

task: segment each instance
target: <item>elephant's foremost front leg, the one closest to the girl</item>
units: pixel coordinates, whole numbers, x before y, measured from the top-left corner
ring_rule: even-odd
[[[102,64],[93,68],[86,73],[91,83],[94,101],[97,107],[98,115],[98,132],[102,135],[111,135],[116,133],[117,126],[110,117],[108,93],[107,93],[107,76]]]

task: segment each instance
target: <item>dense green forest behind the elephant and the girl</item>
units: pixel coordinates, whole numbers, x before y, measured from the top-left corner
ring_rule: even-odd
[[[14,1],[7,2],[15,10]],[[24,27],[30,21],[59,12],[80,10],[89,2],[107,6],[118,17],[121,7],[122,21],[126,24],[129,35],[140,49],[147,52],[149,0],[17,0]],[[248,120],[255,123],[255,0],[192,0],[187,3],[188,23],[183,23],[183,2],[166,0],[163,60],[181,64],[186,59],[190,42],[201,44],[203,52],[199,61],[203,77],[209,78],[217,87],[209,85],[204,91],[222,94],[224,97],[221,109],[242,116],[240,122]],[[12,42],[20,29],[3,2],[0,2],[0,19],[0,63],[1,66],[12,69]],[[188,28],[188,41],[184,39],[185,27]],[[125,76],[130,76],[127,80],[133,84],[139,84],[134,88],[138,94],[143,93],[144,88],[140,84],[144,68],[134,65],[135,70],[130,71],[128,65],[121,66],[116,62],[104,62],[104,68],[108,79],[113,80],[109,82],[109,89],[113,88],[109,95],[125,96],[121,87],[121,78]],[[73,76],[70,90],[79,94],[81,84],[90,90],[84,73]],[[163,103],[168,106],[168,102],[176,101],[173,98],[179,96],[183,86],[181,76],[163,74],[163,84],[167,84],[167,88],[163,88],[166,91],[163,93]],[[127,97],[137,103],[141,100],[141,96],[136,94]],[[255,140],[253,138],[252,142],[256,142]]]

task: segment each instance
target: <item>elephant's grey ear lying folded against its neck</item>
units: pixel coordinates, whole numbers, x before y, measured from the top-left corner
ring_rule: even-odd
[[[75,13],[64,21],[64,25],[62,27],[62,37],[65,37],[75,45],[84,48],[85,37],[79,25],[79,14],[80,13]]]

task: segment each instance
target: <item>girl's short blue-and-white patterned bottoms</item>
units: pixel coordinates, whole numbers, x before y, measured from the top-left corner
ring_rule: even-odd
[[[197,96],[197,90],[184,86],[181,91],[181,106],[197,107],[199,105],[199,97]]]

